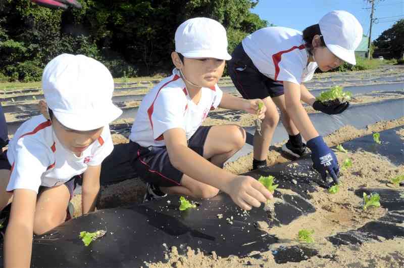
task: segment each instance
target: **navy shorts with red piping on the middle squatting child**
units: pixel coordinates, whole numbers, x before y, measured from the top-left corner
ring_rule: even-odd
[[[200,156],[204,155],[204,145],[211,127],[200,126],[188,140],[188,147]],[[133,156],[131,159],[132,166],[145,183],[162,187],[181,185],[181,178],[184,173],[171,164],[165,146],[146,148],[130,141],[129,150]]]

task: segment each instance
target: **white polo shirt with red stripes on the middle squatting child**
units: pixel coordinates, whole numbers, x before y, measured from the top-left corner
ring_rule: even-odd
[[[192,102],[185,83],[176,69],[143,98],[133,122],[129,139],[140,146],[165,146],[163,133],[182,128],[189,140],[212,109],[216,109],[223,92],[216,84],[202,87],[198,104]]]

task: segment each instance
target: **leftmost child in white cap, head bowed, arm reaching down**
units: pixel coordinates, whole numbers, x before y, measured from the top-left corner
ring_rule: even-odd
[[[0,211],[13,202],[6,267],[30,266],[32,234],[65,221],[77,176],[83,178],[82,212],[94,210],[101,163],[114,147],[109,123],[122,113],[112,103],[111,73],[83,55],[49,62],[42,89],[41,115],[18,128],[0,158]]]

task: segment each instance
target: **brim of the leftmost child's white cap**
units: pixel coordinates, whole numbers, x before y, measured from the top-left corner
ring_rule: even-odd
[[[52,110],[52,112],[61,124],[78,131],[88,131],[103,127],[122,114],[122,110],[116,107],[112,102],[109,104],[109,107],[105,107],[103,111],[98,111],[94,114],[88,113],[88,111],[66,113]]]

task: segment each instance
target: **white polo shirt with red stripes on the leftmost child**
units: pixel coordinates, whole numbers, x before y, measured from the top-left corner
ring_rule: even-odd
[[[34,116],[17,129],[9,143],[7,158],[12,169],[7,191],[29,189],[38,193],[39,186],[65,184],[87,166],[101,164],[113,148],[106,125],[98,140],[77,157],[58,141],[51,121]]]

